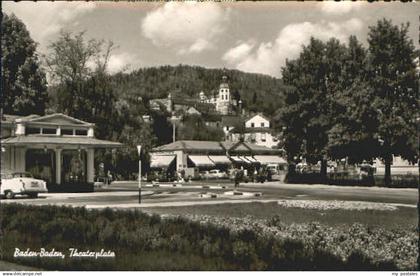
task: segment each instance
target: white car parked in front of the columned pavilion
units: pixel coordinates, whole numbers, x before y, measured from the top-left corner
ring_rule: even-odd
[[[28,195],[36,198],[38,193],[47,193],[47,183],[35,179],[28,172],[2,172],[0,181],[0,196],[12,199],[15,195]]]

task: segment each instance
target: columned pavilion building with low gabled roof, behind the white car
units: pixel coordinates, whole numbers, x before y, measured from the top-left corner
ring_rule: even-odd
[[[95,149],[121,146],[96,139],[94,124],[61,113],[1,118],[1,170],[28,171],[51,184],[93,183]]]

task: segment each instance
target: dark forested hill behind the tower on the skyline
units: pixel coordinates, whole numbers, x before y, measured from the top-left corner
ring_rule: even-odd
[[[180,97],[198,98],[204,91],[216,93],[222,76],[228,77],[231,93],[241,96],[249,111],[272,115],[282,105],[284,90],[281,79],[238,70],[207,69],[199,66],[161,66],[142,68],[112,77],[119,96],[141,96],[147,99],[163,98],[172,93]]]

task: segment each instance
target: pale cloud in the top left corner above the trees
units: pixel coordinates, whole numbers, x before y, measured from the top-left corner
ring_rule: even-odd
[[[3,5],[6,13],[14,13],[25,23],[32,38],[41,45],[66,25],[77,24],[80,15],[95,9],[93,2],[6,2]]]

